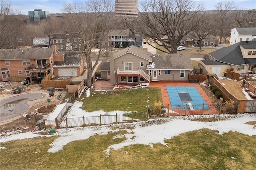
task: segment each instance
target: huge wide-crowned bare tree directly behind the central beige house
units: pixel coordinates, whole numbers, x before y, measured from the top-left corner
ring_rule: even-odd
[[[196,5],[191,0],[145,1],[140,12],[143,34],[162,45],[168,53],[177,53],[180,40],[196,28],[198,14],[203,9],[202,4]]]

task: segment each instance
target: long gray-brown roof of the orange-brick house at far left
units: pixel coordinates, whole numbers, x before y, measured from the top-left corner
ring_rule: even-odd
[[[52,48],[1,49],[0,60],[50,59],[52,52]]]

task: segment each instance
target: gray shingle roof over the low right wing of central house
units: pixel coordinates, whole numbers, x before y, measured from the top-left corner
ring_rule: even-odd
[[[189,54],[151,54],[150,57],[154,69],[193,69]]]

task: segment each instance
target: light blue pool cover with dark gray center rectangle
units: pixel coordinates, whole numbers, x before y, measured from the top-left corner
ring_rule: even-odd
[[[194,109],[202,109],[204,104],[204,109],[210,110],[196,87],[167,86],[166,89],[173,109],[185,109],[189,102]]]

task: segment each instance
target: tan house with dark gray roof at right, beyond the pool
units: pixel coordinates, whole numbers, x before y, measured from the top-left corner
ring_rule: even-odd
[[[256,67],[256,41],[242,41],[209,53],[210,60],[200,60],[203,73],[224,76],[227,69],[246,73]]]

